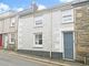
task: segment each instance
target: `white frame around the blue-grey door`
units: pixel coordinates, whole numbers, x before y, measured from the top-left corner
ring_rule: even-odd
[[[63,44],[63,33],[66,32],[72,32],[73,35],[73,59],[69,59],[69,58],[65,58],[65,44]],[[75,32],[73,31],[62,31],[62,46],[63,46],[63,54],[62,54],[62,58],[66,61],[75,61],[76,59],[76,44],[75,44]]]

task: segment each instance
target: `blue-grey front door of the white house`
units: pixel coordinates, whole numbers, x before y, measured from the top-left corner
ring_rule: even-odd
[[[73,59],[73,33],[63,32],[65,59]]]

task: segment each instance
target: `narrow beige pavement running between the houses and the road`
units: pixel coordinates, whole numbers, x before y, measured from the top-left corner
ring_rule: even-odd
[[[2,53],[2,51],[1,51]],[[51,61],[48,58],[38,58],[37,56],[28,56],[23,54],[18,54],[16,52],[3,52],[8,54],[9,56],[16,56],[17,58],[22,58],[24,61],[33,61],[33,62],[40,62],[42,64],[47,64],[46,66],[89,66],[89,65],[83,65],[77,62],[68,62],[68,61]],[[43,66],[43,65],[41,65]]]

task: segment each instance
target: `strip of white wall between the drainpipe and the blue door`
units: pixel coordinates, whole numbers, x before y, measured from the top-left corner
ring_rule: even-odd
[[[61,20],[61,11],[53,11],[52,12],[52,47],[53,52],[62,52],[62,44],[60,43],[60,23]]]

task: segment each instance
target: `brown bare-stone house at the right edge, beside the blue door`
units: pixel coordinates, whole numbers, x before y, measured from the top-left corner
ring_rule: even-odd
[[[77,59],[89,64],[89,0],[77,0],[75,9],[75,33]]]

